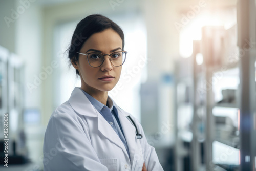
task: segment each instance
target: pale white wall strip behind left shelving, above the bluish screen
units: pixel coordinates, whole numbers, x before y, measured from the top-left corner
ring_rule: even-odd
[[[42,10],[33,3],[20,15],[16,29],[16,52],[25,63],[25,108],[41,109]],[[38,86],[37,86],[38,83]]]

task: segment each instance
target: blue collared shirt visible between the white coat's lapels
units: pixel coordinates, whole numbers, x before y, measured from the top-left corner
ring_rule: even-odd
[[[121,126],[119,118],[118,118],[117,107],[115,106],[115,104],[113,103],[111,98],[108,97],[108,99],[107,99],[107,104],[108,104],[108,106],[110,106],[110,108],[109,108],[108,106],[102,104],[101,102],[99,102],[98,100],[93,98],[87,92],[83,91],[83,93],[86,95],[86,97],[92,103],[92,105],[95,107],[95,109],[105,118],[105,120],[111,125],[111,127],[117,133],[117,135],[123,142],[123,145],[125,146],[126,151],[130,158],[129,148],[128,148],[126,139],[123,134],[122,126]]]

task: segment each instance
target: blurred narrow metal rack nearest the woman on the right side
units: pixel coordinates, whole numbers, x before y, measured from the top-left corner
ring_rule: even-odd
[[[197,94],[201,80],[205,79],[204,65],[196,64],[196,54],[201,44],[194,42],[194,53],[189,58],[181,58],[176,65],[176,170],[203,170],[204,94]]]

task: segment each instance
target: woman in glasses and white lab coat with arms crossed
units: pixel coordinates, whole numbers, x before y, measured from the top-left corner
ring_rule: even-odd
[[[108,96],[120,78],[123,49],[123,31],[109,18],[94,14],[78,23],[68,50],[81,88],[50,117],[45,171],[163,170],[141,124]]]

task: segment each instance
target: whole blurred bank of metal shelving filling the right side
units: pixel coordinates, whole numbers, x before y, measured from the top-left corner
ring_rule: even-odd
[[[255,2],[238,2],[237,18],[229,29],[204,27],[193,55],[176,65],[178,171],[256,170]],[[192,117],[181,127],[184,95]]]

